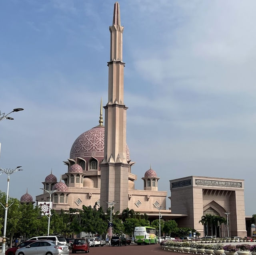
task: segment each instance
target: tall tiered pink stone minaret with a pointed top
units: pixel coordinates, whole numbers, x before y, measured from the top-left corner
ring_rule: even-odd
[[[100,206],[115,202],[115,212],[128,207],[128,172],[126,160],[126,109],[124,105],[124,62],[122,61],[123,30],[118,2],[114,4],[110,30],[108,62],[108,103],[105,109],[104,160],[101,168]]]

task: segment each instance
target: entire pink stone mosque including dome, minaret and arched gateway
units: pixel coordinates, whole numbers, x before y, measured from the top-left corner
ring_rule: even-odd
[[[179,227],[192,227],[204,236],[199,223],[207,213],[226,218],[230,213],[230,236],[246,236],[244,210],[244,180],[189,176],[170,180],[171,208],[166,208],[166,191],[158,191],[156,172],[150,167],[142,176],[143,190],[136,190],[137,176],[132,174],[135,164],[130,159],[126,144],[126,107],[124,103],[124,67],[120,6],[114,4],[110,26],[110,60],[108,62],[108,101],[103,125],[102,102],[99,125],[80,134],[74,141],[70,155],[64,161],[66,171],[59,182],[52,172],[46,176],[45,190],[52,194],[54,210],[69,210],[85,206],[102,206],[116,202],[115,211],[127,207],[135,212],[147,213],[149,219],[175,219]],[[49,201],[44,191],[36,196],[37,202]],[[222,229],[222,236],[226,236]]]

